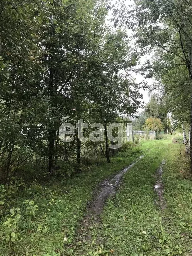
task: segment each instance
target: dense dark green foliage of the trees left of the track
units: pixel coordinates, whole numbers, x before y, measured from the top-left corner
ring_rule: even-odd
[[[108,125],[141,105],[143,84],[129,75],[137,54],[130,49],[125,30],[106,25],[111,8],[105,0],[2,0],[0,174],[4,180],[25,171],[35,175],[47,166],[50,174],[70,175],[70,166],[54,169],[62,161],[76,158],[79,163],[83,145],[77,134],[74,142],[62,142],[61,124],[75,125],[84,118]],[[92,150],[95,155],[97,151],[101,152]]]

